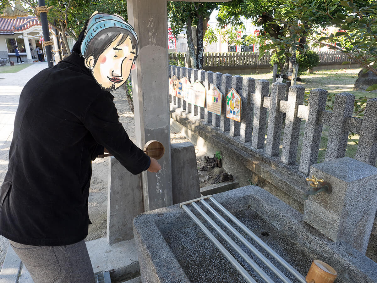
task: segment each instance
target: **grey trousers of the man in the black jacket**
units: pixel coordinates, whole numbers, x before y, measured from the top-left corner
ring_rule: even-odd
[[[94,283],[84,240],[68,246],[29,246],[9,241],[34,283]]]

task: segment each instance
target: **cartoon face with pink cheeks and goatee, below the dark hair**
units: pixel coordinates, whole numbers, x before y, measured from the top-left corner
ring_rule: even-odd
[[[130,75],[135,58],[135,50],[132,48],[130,38],[118,44],[121,35],[107,47],[94,63],[93,55],[86,59],[87,68],[92,70],[93,77],[98,84],[107,90],[119,88]],[[92,64],[93,63],[93,64]]]

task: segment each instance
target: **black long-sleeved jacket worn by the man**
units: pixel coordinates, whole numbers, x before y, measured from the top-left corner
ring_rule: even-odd
[[[133,174],[150,165],[118,118],[113,96],[75,52],[31,78],[20,95],[0,190],[0,234],[34,246],[83,240],[91,160],[106,147]]]

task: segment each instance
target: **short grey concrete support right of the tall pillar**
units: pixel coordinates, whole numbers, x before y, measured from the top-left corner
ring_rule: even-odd
[[[173,204],[200,197],[199,175],[194,145],[172,144]]]

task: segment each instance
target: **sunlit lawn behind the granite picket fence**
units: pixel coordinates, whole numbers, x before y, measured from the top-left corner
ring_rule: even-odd
[[[300,76],[301,82],[297,82],[297,84],[305,87],[306,93],[308,93],[311,89],[314,89],[314,88],[322,88],[328,91],[328,95],[334,95],[341,92],[349,92],[351,94],[354,94],[356,99],[364,98],[364,97],[367,97],[367,98],[377,97],[377,93],[352,90],[352,88],[354,87],[355,81],[357,80],[357,77],[358,77],[357,74],[359,73],[359,71],[360,69],[338,69],[338,70],[315,71],[313,74]],[[242,75],[242,77],[253,77],[256,80],[264,79],[272,83],[272,72],[267,73],[267,74]],[[299,163],[300,161],[304,129],[305,129],[305,120],[302,120],[300,137],[299,137],[299,148],[297,150],[297,163]],[[281,135],[282,139],[281,139],[281,144],[280,144],[280,154],[281,154],[281,149],[282,149],[283,133],[284,133],[284,129],[282,129],[282,135]],[[318,163],[323,162],[325,160],[328,133],[329,133],[329,127],[323,126],[321,142],[320,142],[320,147],[319,147],[319,154],[318,154]],[[354,157],[357,151],[356,143],[358,141],[359,141],[359,135],[355,134],[355,135],[349,136],[345,156]]]

